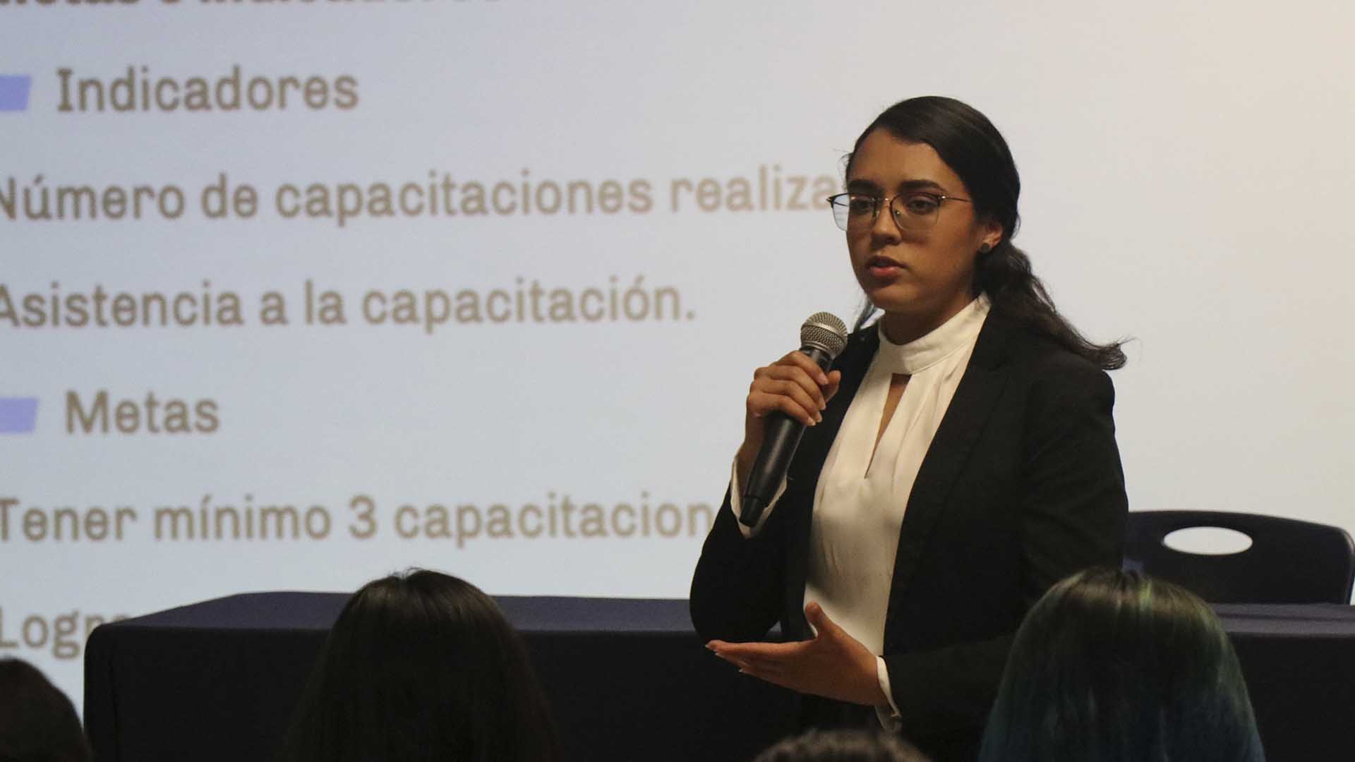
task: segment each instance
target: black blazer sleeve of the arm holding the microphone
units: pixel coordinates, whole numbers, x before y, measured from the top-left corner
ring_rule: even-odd
[[[691,579],[691,622],[703,639],[763,640],[776,624],[786,584],[789,513],[780,504],[757,534],[744,537],[725,491]]]

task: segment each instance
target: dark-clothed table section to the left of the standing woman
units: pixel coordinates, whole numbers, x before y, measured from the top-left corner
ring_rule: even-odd
[[[252,593],[100,625],[85,647],[98,762],[271,759],[347,593]],[[495,598],[573,761],[747,762],[798,700],[703,648],[686,601]]]

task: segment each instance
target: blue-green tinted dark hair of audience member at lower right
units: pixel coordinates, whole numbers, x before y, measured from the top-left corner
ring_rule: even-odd
[[[1026,616],[981,762],[1262,762],[1237,655],[1176,584],[1079,572]]]

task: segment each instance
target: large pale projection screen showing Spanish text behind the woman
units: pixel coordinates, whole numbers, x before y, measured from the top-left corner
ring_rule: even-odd
[[[1008,138],[1134,510],[1333,523],[1352,11],[0,0],[0,655],[411,565],[684,597],[890,103]]]

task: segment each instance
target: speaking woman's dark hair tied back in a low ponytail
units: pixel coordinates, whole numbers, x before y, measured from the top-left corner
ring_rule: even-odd
[[[969,191],[978,218],[995,220],[1003,228],[1003,240],[986,254],[976,254],[974,296],[986,293],[995,309],[1001,309],[1018,323],[1043,334],[1069,351],[1081,355],[1104,370],[1125,365],[1121,342],[1093,344],[1054,308],[1045,285],[1031,270],[1030,258],[1012,244],[1020,226],[1016,199],[1020,197],[1020,176],[1011,149],[997,127],[972,106],[954,98],[936,95],[901,100],[875,121],[852,146],[847,156],[847,176],[851,163],[866,136],[883,129],[898,140],[924,142],[936,151]],[[866,301],[856,319],[862,328],[875,306]]]

